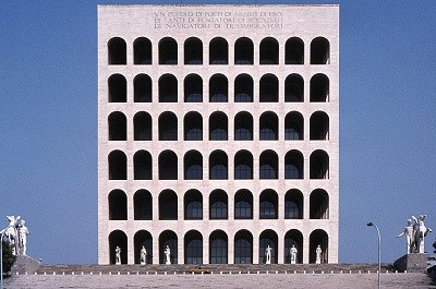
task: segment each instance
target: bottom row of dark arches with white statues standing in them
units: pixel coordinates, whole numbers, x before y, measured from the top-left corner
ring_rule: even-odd
[[[283,248],[278,248],[279,237],[272,229],[266,229],[258,236],[258,249],[254,248],[253,233],[246,229],[239,230],[231,236],[223,230],[215,230],[208,237],[204,237],[197,230],[187,231],[182,240],[179,240],[178,234],[173,230],[165,230],[160,232],[158,238],[158,248],[153,246],[153,236],[147,230],[140,230],[133,237],[134,246],[134,263],[140,264],[141,248],[147,250],[146,263],[153,264],[154,254],[158,254],[159,264],[165,264],[166,256],[164,250],[169,246],[171,251],[171,264],[203,264],[204,255],[208,256],[208,264],[228,264],[229,263],[229,246],[233,246],[233,263],[234,264],[253,264],[254,250],[258,250],[258,264],[265,264],[265,249],[269,245],[272,248],[271,263],[279,263],[278,256],[281,255],[283,263],[291,263],[290,249],[292,245],[299,251],[296,263],[303,263],[303,255],[307,254],[303,248],[303,233],[300,230],[291,229],[283,237]],[[204,238],[208,238],[208,248],[204,248]],[[121,263],[128,263],[128,236],[121,230],[114,230],[109,234],[110,264],[114,264],[114,251],[117,246],[121,248]],[[179,242],[183,243],[184,258],[179,258]],[[308,262],[315,263],[316,248],[323,250],[320,261],[328,263],[328,234],[323,229],[316,229],[308,237]],[[281,251],[282,250],[282,251]],[[281,251],[280,254],[278,254]],[[283,253],[283,254],[282,254]],[[281,263],[280,262],[280,263]]]

